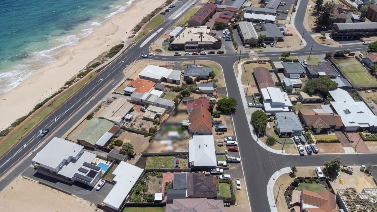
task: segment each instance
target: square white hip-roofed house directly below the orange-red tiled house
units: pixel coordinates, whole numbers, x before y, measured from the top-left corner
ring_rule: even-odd
[[[189,140],[189,160],[193,166],[216,166],[213,135],[193,135]]]

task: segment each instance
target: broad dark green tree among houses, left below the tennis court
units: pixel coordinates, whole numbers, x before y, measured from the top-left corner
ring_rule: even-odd
[[[334,82],[329,77],[322,77],[308,80],[302,90],[307,94],[313,95],[319,92],[327,92],[336,89],[337,86],[338,83]]]

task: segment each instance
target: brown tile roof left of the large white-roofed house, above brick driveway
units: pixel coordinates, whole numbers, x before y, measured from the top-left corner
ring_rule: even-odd
[[[330,128],[331,126],[343,126],[342,118],[338,114],[333,113],[317,113],[314,109],[301,109],[299,113],[305,117],[306,124],[317,128],[322,124],[322,128]]]

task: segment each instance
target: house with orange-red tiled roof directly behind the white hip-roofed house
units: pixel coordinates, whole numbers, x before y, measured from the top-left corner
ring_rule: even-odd
[[[192,109],[189,114],[189,132],[193,135],[212,135],[211,113],[205,106]]]

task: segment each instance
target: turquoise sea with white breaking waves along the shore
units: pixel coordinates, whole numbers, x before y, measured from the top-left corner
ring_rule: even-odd
[[[0,0],[0,94],[133,0]]]

